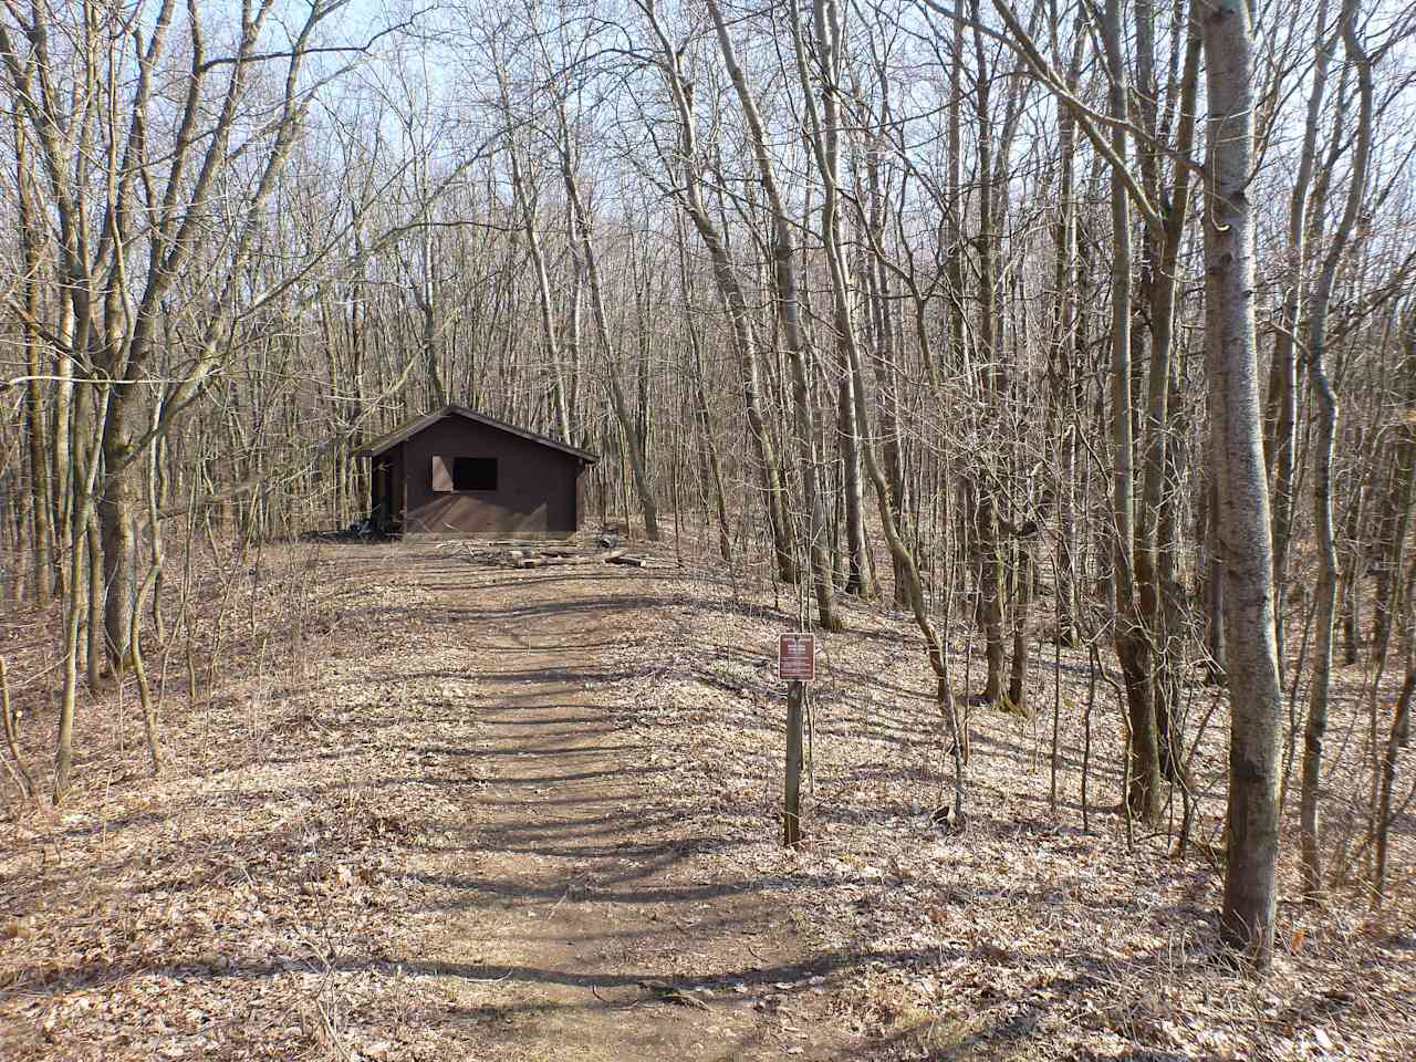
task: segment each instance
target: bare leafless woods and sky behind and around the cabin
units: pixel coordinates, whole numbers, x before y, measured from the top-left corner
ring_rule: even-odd
[[[58,602],[54,799],[79,691],[147,704],[164,581],[361,520],[353,452],[453,401],[599,452],[592,521],[827,630],[843,595],[913,615],[959,810],[964,715],[1029,711],[1042,637],[1114,661],[1137,821],[1188,821],[1182,691],[1222,683],[1222,925],[1260,961],[1290,777],[1328,886],[1362,663],[1379,902],[1413,30],[1374,0],[3,0],[0,564]]]

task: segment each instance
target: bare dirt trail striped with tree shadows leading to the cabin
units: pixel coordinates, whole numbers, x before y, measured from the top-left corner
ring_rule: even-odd
[[[673,786],[599,692],[656,600],[650,575],[568,568],[469,578],[425,568],[425,603],[490,690],[464,756],[453,913],[428,967],[484,1059],[844,1058],[850,1038],[787,903],[695,867],[712,838],[658,810]],[[800,915],[797,915],[800,920]]]

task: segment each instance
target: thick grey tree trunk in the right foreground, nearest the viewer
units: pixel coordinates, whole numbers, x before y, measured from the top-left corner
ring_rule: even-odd
[[[1279,656],[1255,323],[1255,50],[1245,0],[1201,0],[1209,149],[1205,358],[1218,470],[1232,724],[1221,935],[1259,967],[1273,957],[1279,864]]]

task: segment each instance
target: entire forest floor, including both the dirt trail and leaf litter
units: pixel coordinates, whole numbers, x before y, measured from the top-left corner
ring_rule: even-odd
[[[667,548],[523,572],[385,544],[270,548],[201,596],[191,671],[181,639],[149,650],[163,773],[109,691],[82,705],[64,804],[7,790],[0,1058],[1416,1056],[1410,814],[1382,912],[1357,885],[1297,903],[1290,857],[1273,973],[1218,961],[1225,726],[1204,687],[1185,855],[1127,830],[1114,692],[1051,644],[1032,719],[973,714],[950,835],[918,639],[848,606],[789,851],[794,605],[770,588]],[[51,633],[0,622],[31,767]],[[1330,858],[1359,855],[1365,784],[1361,680],[1341,692]]]

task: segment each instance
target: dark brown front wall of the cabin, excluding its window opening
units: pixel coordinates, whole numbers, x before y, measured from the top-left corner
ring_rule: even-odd
[[[398,447],[408,534],[572,534],[581,462],[530,439],[446,416]],[[432,489],[433,457],[496,457],[497,490]]]

